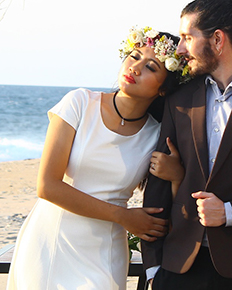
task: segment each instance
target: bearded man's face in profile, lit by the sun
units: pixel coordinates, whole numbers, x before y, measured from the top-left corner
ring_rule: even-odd
[[[180,22],[180,41],[177,54],[184,55],[192,76],[212,74],[218,67],[218,59],[212,50],[210,39],[194,27],[197,14],[186,14]]]

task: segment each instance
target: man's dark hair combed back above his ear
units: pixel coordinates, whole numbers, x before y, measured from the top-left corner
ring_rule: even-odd
[[[232,44],[232,0],[195,0],[189,3],[181,12],[197,13],[194,27],[202,31],[204,37],[210,38],[214,31],[224,31]]]

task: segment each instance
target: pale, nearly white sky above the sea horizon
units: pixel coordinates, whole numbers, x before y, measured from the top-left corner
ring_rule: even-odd
[[[129,29],[178,35],[189,2],[0,0],[0,85],[113,88]]]

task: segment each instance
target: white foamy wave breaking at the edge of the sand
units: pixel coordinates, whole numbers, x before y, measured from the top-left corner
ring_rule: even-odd
[[[0,138],[0,162],[40,158],[43,146],[41,141]]]

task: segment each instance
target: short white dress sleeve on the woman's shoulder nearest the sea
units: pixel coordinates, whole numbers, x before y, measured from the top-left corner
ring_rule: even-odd
[[[70,91],[59,103],[48,111],[49,120],[51,120],[52,116],[56,114],[77,130],[86,99],[87,96],[84,89]]]

